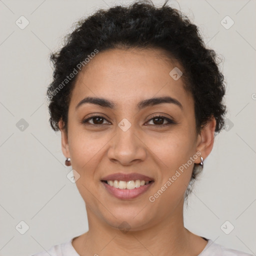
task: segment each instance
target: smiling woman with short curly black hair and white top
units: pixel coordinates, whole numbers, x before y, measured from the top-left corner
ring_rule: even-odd
[[[183,224],[226,112],[215,52],[186,16],[166,2],[98,10],[51,60],[49,121],[89,229],[34,255],[249,255]]]

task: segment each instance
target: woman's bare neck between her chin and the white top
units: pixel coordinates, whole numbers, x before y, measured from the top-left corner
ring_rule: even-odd
[[[184,227],[183,201],[158,223],[136,231],[120,231],[95,216],[89,208],[86,210],[89,230],[74,246],[82,256],[198,255],[207,243]]]

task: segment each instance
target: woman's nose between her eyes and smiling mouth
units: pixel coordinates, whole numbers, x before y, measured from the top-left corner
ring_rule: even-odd
[[[121,165],[131,165],[146,158],[146,146],[139,137],[132,125],[123,131],[116,127],[116,135],[111,139],[111,144],[107,151],[108,158]]]

